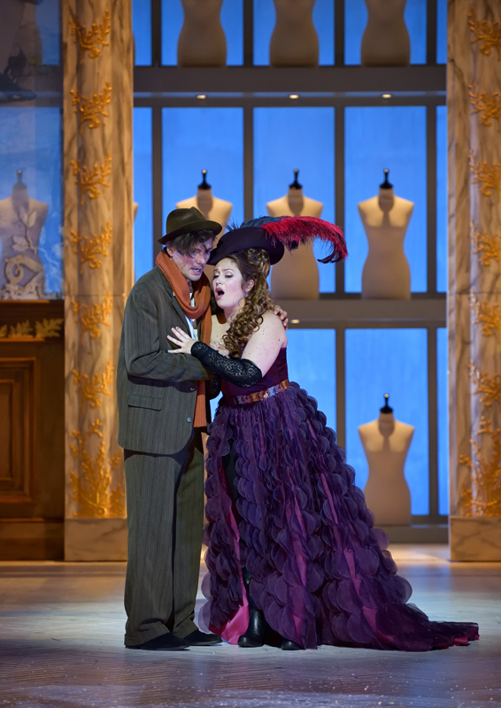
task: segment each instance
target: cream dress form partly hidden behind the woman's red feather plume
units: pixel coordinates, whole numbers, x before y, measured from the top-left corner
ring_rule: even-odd
[[[320,218],[323,204],[304,196],[297,181],[299,170],[294,170],[294,181],[289,192],[280,199],[266,204],[270,216],[315,216]],[[280,299],[318,300],[319,266],[313,253],[313,244],[307,243],[296,250],[285,250],[281,261],[272,268],[272,296]]]

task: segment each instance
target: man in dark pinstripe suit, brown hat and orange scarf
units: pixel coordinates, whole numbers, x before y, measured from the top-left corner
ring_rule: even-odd
[[[130,649],[220,643],[194,623],[204,519],[204,380],[197,358],[172,357],[171,327],[210,342],[204,276],[221,226],[195,207],[167,217],[156,267],[127,299],[117,368],[119,445],[127,484],[125,589]]]

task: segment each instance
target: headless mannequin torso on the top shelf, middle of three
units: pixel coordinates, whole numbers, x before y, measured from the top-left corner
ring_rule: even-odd
[[[317,66],[319,38],[313,25],[315,0],[274,0],[276,21],[270,65]]]

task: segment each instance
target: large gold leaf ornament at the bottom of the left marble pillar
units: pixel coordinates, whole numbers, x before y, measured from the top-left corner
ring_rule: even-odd
[[[78,504],[78,511],[73,512],[73,516],[90,519],[110,519],[113,517],[125,516],[125,495],[121,484],[112,486],[112,472],[119,466],[120,455],[116,453],[106,463],[106,449],[103,440],[103,433],[100,428],[103,423],[96,419],[91,423],[89,430],[81,433],[80,430],[73,430],[73,440],[70,445],[73,458],[79,460],[81,464],[81,475],[70,471],[70,482],[72,485],[72,499]],[[96,435],[101,439],[96,451],[96,456],[92,457],[89,452],[89,438]]]

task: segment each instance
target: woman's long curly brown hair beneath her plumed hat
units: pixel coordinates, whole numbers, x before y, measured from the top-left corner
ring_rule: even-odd
[[[250,292],[245,296],[242,310],[232,320],[223,343],[231,358],[242,356],[243,349],[253,332],[263,321],[265,312],[274,309],[266,278],[270,272],[270,258],[263,249],[247,249],[227,256],[234,261],[242,273],[243,284],[254,281]]]

